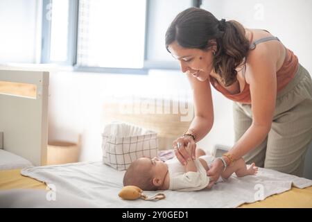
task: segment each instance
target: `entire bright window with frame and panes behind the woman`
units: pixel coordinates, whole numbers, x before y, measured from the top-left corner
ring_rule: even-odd
[[[42,62],[137,74],[179,69],[164,35],[178,12],[198,2],[43,0]]]

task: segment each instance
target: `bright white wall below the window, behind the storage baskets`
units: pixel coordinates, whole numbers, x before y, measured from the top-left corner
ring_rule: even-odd
[[[82,137],[80,160],[100,160],[104,104],[117,96],[155,95],[168,98],[188,91],[184,74],[151,71],[148,76],[51,71],[49,87],[49,140],[77,142]],[[180,89],[181,91],[181,89]],[[115,99],[114,99],[115,98]]]

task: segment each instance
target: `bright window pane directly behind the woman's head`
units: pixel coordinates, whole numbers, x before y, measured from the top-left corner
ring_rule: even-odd
[[[151,61],[173,61],[166,51],[165,34],[175,16],[192,6],[191,0],[150,0],[148,14],[148,51]]]

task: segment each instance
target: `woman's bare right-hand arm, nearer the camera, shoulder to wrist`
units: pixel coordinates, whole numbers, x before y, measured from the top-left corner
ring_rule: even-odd
[[[252,100],[252,125],[229,151],[234,160],[261,144],[272,124],[277,96],[276,60],[270,56],[267,46],[258,48],[250,54],[246,76]]]

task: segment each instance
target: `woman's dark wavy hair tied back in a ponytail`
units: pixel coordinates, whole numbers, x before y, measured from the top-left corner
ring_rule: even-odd
[[[214,15],[201,8],[188,8],[180,12],[166,31],[166,49],[177,41],[184,48],[207,50],[209,40],[216,40],[217,51],[213,67],[225,86],[236,80],[236,67],[244,63],[248,55],[249,41],[239,22],[225,19],[218,21]],[[170,52],[170,51],[169,51]]]

